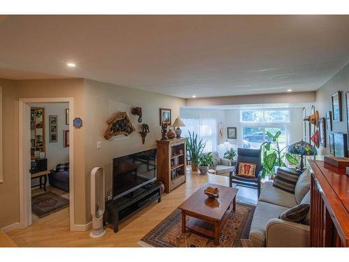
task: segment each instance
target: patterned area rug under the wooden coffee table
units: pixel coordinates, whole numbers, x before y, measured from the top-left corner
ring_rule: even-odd
[[[235,212],[231,212],[217,247],[241,247],[240,239],[248,238],[255,205],[237,202]],[[188,217],[187,217],[188,219]],[[141,247],[175,247],[177,236],[181,234],[181,210],[177,209],[145,235],[138,245]],[[186,232],[187,247],[216,247],[213,240],[204,235]]]

